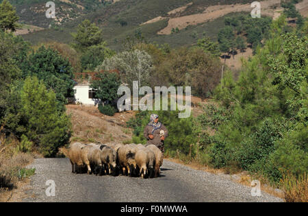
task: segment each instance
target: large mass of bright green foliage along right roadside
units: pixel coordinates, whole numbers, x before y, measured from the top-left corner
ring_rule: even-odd
[[[245,63],[238,80],[224,76],[216,88],[222,107],[205,108],[205,152],[214,167],[234,167],[279,182],[308,170],[307,36],[283,33],[285,17],[274,21],[264,48]]]

